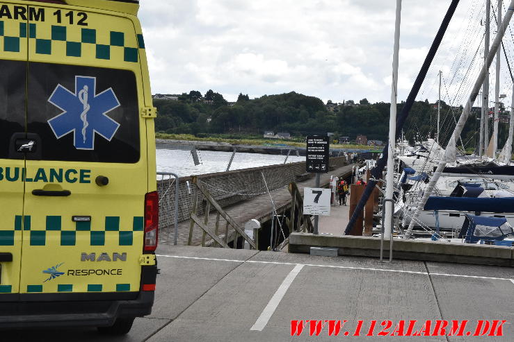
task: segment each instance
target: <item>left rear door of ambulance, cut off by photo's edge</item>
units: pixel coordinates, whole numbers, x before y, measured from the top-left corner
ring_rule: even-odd
[[[22,255],[27,6],[0,1],[0,302],[17,300]],[[19,145],[17,145],[19,144]],[[23,148],[22,148],[23,150]]]

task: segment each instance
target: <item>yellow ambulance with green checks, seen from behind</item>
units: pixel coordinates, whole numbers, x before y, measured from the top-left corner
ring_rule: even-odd
[[[0,0],[0,329],[150,314],[154,117],[139,1]]]

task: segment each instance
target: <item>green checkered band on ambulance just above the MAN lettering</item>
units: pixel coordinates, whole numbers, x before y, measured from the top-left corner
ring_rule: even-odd
[[[75,246],[77,234],[89,234],[90,246],[105,246],[106,234],[118,234],[119,246],[132,246],[134,232],[143,232],[143,216],[134,216],[131,230],[120,230],[120,216],[106,216],[101,230],[91,229],[91,222],[74,222],[74,230],[62,230],[61,216],[47,216],[45,230],[31,229],[31,216],[16,215],[14,230],[0,230],[0,246],[14,246],[15,230],[28,230],[31,246],[46,246],[47,232],[60,232],[61,246]],[[1,290],[0,290],[1,292]]]

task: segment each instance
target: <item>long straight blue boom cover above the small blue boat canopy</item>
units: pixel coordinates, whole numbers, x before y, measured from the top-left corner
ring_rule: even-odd
[[[514,212],[514,197],[440,197],[430,196],[425,210],[457,210],[459,212]]]

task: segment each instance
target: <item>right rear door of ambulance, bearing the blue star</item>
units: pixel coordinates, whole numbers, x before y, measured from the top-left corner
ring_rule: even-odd
[[[38,17],[27,135],[38,153],[26,157],[21,296],[135,298],[148,174],[134,24],[115,12],[29,7]]]

